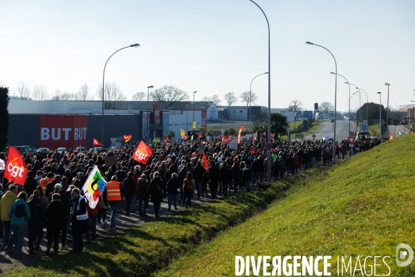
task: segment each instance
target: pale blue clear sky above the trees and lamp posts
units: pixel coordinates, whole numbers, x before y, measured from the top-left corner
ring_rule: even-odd
[[[334,103],[338,73],[397,107],[415,100],[415,1],[257,0],[270,23],[271,107],[300,100]],[[268,71],[268,29],[249,0],[0,1],[0,82],[45,84],[48,93],[95,93],[108,57],[106,81],[127,99],[153,85],[173,85],[196,100],[249,91]],[[268,76],[252,83],[268,106]],[[351,87],[351,93],[356,91]],[[95,98],[96,99],[96,98]],[[349,88],[338,78],[339,111]],[[365,99],[365,97],[364,97]],[[225,105],[225,100],[222,100]],[[243,105],[241,100],[236,105]]]

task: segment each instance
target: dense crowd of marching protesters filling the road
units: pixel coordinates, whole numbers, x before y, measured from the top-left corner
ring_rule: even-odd
[[[198,145],[202,143],[204,150],[199,150]],[[355,141],[354,154],[378,143]],[[59,240],[60,249],[68,250],[67,239],[73,240],[72,251],[82,251],[84,236],[87,242],[98,237],[97,226],[116,231],[119,213],[146,217],[152,203],[154,216],[158,217],[161,202],[166,198],[168,210],[178,210],[179,205],[192,208],[194,197],[215,199],[218,195],[227,197],[242,190],[248,193],[257,181],[266,181],[268,173],[272,179],[281,180],[299,169],[324,166],[333,161],[333,147],[336,159],[352,154],[345,140],[335,145],[324,140],[275,141],[272,170],[268,172],[264,143],[243,143],[237,149],[230,149],[228,143],[217,140],[153,142],[149,146],[153,154],[146,165],[131,157],[133,145],[100,152],[24,154],[29,169],[24,184],[13,184],[0,176],[2,249],[19,258],[27,233],[29,253],[39,255],[46,229],[46,254],[59,252]],[[118,163],[107,166],[105,159],[112,156],[118,157]],[[0,159],[6,160],[3,153]],[[94,166],[107,180],[107,187],[98,205],[90,208],[82,186]]]

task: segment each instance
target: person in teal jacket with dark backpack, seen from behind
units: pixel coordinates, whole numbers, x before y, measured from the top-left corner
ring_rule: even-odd
[[[28,195],[24,191],[17,195],[17,200],[12,204],[8,211],[8,217],[12,220],[10,222],[12,228],[12,238],[6,246],[8,253],[13,253],[12,246],[15,244],[15,258],[21,257],[21,248],[23,247],[24,233],[28,228],[30,220],[30,209],[26,203]]]

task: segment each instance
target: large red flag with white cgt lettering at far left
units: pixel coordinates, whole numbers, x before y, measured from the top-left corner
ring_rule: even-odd
[[[13,181],[16,184],[24,185],[28,175],[28,167],[21,157],[19,151],[16,148],[9,146],[9,152],[7,154],[6,168],[4,170],[4,177],[9,181]]]

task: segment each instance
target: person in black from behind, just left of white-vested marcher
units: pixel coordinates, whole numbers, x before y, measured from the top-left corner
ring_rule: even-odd
[[[50,247],[53,242],[53,253],[57,255],[59,249],[59,236],[62,229],[66,228],[66,217],[64,205],[60,201],[59,193],[53,193],[52,201],[46,208],[46,238],[48,239],[48,246],[46,254],[49,254]]]

